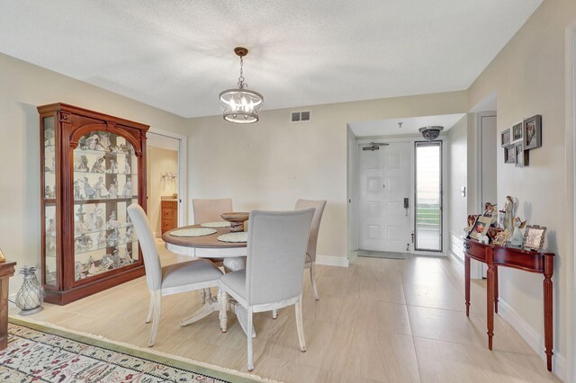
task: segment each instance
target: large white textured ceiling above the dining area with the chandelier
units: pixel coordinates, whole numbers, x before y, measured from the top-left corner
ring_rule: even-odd
[[[184,117],[463,90],[542,0],[3,0],[0,52]]]

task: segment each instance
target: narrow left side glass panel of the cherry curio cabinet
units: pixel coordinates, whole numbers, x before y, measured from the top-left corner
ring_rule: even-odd
[[[58,268],[56,261],[56,245],[58,232],[56,215],[56,138],[54,130],[54,116],[43,119],[44,129],[44,284],[56,286],[58,281]]]

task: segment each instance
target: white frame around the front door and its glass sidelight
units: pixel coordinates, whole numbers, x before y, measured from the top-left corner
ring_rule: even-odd
[[[421,141],[422,140],[422,136],[420,135],[410,135],[410,136],[406,136],[406,137],[397,137],[397,138],[386,138],[386,137],[374,137],[374,138],[356,138],[356,142],[354,145],[354,151],[356,151],[356,154],[352,153],[352,156],[355,156],[356,158],[354,158],[356,160],[356,168],[354,169],[354,173],[357,174],[358,173],[358,165],[360,164],[359,161],[359,156],[360,153],[362,152],[362,146],[366,145],[366,144],[370,144],[371,142],[374,141],[383,141],[386,143],[399,143],[399,142],[408,142],[410,143],[410,199],[412,200],[410,202],[410,227],[409,227],[409,242],[410,242],[410,254],[418,254],[418,255],[432,255],[432,256],[446,256],[446,248],[447,248],[447,236],[446,236],[446,222],[447,222],[447,214],[446,214],[446,204],[447,204],[447,193],[446,193],[446,183],[443,183],[442,185],[442,220],[443,220],[443,227],[442,227],[442,252],[425,252],[425,251],[414,251],[414,244],[411,243],[410,241],[410,235],[411,233],[414,231],[414,214],[415,214],[415,209],[413,209],[413,205],[414,205],[414,187],[415,187],[415,178],[414,178],[414,172],[415,172],[415,165],[414,165],[414,154],[415,154],[415,142],[416,141]],[[442,176],[443,179],[446,180],[446,172],[447,172],[447,161],[446,161],[446,155],[447,155],[447,145],[446,145],[446,140],[447,140],[447,136],[446,133],[441,134],[440,137],[437,138],[437,140],[441,140],[442,141]],[[359,216],[359,209],[358,209],[358,199],[360,197],[360,191],[359,191],[359,187],[360,187],[360,181],[358,179],[358,177],[353,177],[352,180],[354,181],[354,185],[353,187],[350,188],[351,191],[351,195],[348,196],[348,204],[351,205],[351,210],[353,211],[353,217],[352,219],[348,220],[348,225],[353,224],[356,225],[356,236],[353,236],[352,238],[348,238],[349,241],[351,241],[351,248],[353,249],[358,249],[358,244],[359,244],[359,237],[360,235],[358,234],[358,216]],[[349,182],[351,180],[348,180]],[[354,230],[351,229],[351,227],[348,227],[348,233],[354,232]],[[352,250],[354,251],[354,250]]]

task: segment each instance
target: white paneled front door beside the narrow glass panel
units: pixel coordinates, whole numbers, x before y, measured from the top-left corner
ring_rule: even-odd
[[[359,247],[407,252],[410,243],[410,143],[359,150]],[[411,205],[411,201],[410,201]],[[411,206],[410,206],[411,207]]]

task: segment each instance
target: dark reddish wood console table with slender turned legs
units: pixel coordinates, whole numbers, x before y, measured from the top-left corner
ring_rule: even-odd
[[[470,316],[470,259],[488,266],[486,305],[488,315],[488,348],[492,349],[494,335],[494,310],[498,313],[498,267],[511,267],[525,272],[544,274],[544,334],[546,362],[552,371],[552,273],[554,253],[538,253],[514,246],[484,245],[474,239],[464,239],[464,284],[466,316]]]

